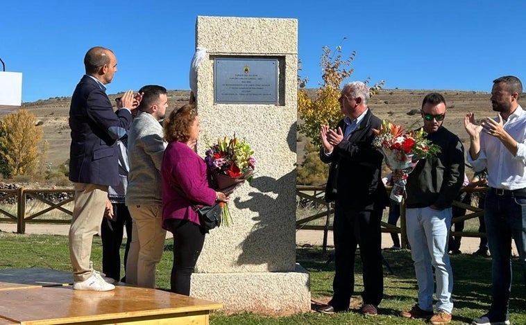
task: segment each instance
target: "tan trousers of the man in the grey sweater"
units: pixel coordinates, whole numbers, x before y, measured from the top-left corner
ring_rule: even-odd
[[[162,206],[128,206],[133,220],[132,241],[126,261],[126,283],[155,288],[155,271],[162,258],[166,230],[162,229]]]

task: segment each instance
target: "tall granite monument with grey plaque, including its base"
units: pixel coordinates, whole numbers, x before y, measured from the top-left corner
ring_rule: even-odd
[[[256,174],[230,196],[233,225],[212,229],[192,275],[193,297],[226,311],[310,310],[296,263],[297,19],[197,17],[196,107],[204,139],[245,139]]]

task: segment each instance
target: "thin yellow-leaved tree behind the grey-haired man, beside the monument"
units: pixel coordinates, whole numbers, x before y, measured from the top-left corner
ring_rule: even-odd
[[[345,39],[345,38],[344,38]],[[334,54],[336,58],[334,58]],[[298,132],[310,139],[316,147],[321,146],[319,132],[321,125],[335,127],[343,114],[340,111],[338,98],[340,96],[341,82],[353,74],[354,69],[348,69],[356,55],[353,51],[346,60],[341,57],[341,46],[337,46],[332,53],[328,46],[323,47],[320,66],[323,69],[323,83],[312,100],[307,96],[305,89],[307,78],[298,76],[298,112],[303,123],[298,124]],[[369,78],[365,81],[367,84]],[[382,89],[384,81],[378,82],[370,87],[371,96]]]

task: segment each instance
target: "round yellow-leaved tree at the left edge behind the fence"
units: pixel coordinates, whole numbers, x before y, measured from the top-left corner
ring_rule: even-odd
[[[44,130],[36,126],[36,117],[20,109],[4,116],[0,123],[0,161],[5,176],[31,175],[38,169],[38,146]]]

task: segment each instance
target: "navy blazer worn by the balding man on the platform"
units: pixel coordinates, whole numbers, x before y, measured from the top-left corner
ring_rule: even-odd
[[[90,76],[83,76],[69,107],[69,180],[76,183],[117,186],[119,151],[132,121],[128,109],[113,112],[110,99]]]

